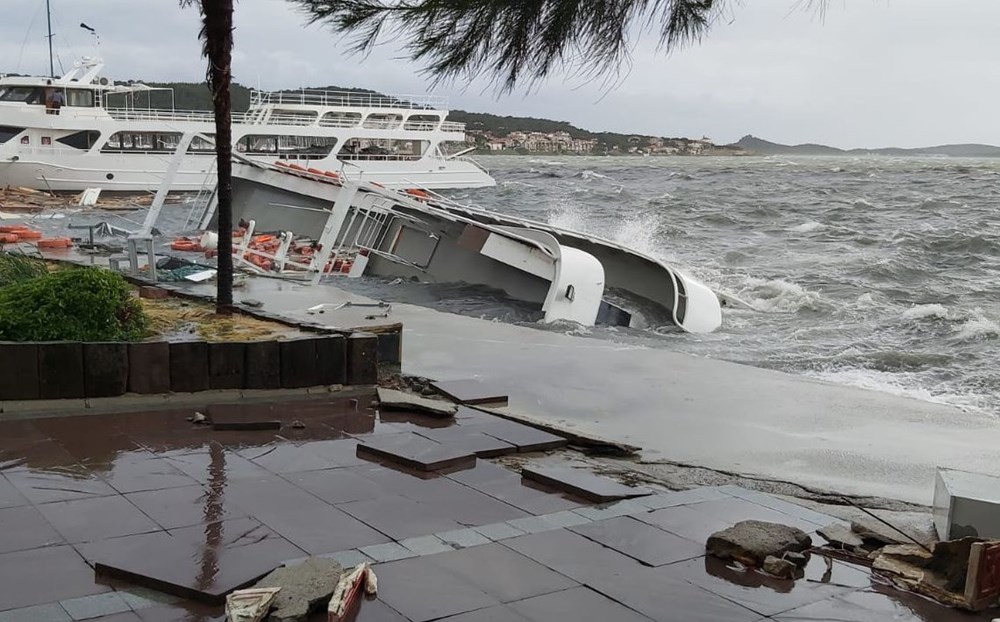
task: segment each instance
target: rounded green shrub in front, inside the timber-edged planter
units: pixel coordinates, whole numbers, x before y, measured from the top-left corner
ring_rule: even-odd
[[[129,284],[107,270],[59,270],[0,289],[0,340],[134,341],[148,326]]]

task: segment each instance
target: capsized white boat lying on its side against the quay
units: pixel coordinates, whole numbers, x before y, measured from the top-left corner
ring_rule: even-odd
[[[215,207],[213,197],[202,228],[214,228]],[[313,282],[336,274],[486,285],[537,304],[546,322],[673,325],[692,333],[722,323],[711,289],[654,257],[423,190],[240,160],[233,165],[233,218],[249,225],[236,261],[252,271]]]

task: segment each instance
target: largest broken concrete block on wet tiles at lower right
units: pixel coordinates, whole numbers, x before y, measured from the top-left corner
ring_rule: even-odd
[[[709,536],[705,549],[719,559],[759,568],[769,555],[781,558],[788,551],[801,553],[810,546],[812,539],[801,529],[746,520]]]

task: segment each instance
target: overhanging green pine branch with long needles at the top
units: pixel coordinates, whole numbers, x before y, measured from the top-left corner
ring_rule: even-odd
[[[503,92],[562,69],[616,71],[633,37],[669,52],[697,40],[727,0],[289,0],[356,52],[399,41],[435,79],[491,77]]]

